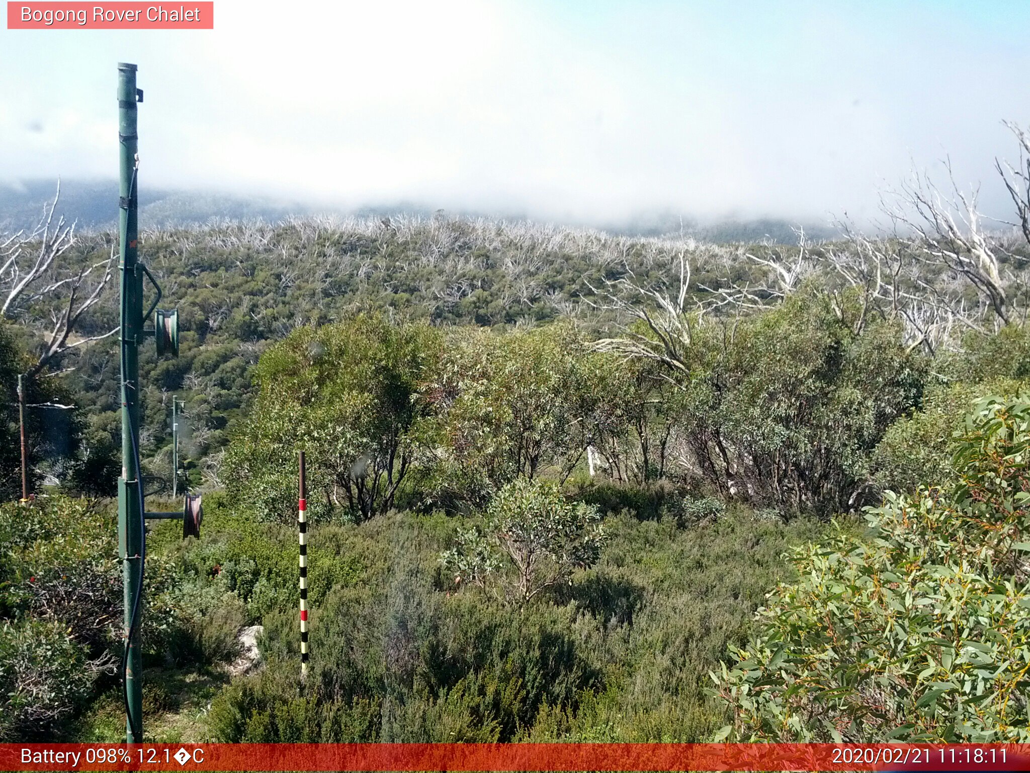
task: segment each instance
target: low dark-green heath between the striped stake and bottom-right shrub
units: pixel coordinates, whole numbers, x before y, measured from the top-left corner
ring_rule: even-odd
[[[786,546],[819,533],[737,508],[686,529],[609,513],[591,569],[510,605],[443,571],[459,528],[408,512],[313,529],[310,557],[342,550],[360,568],[317,580],[307,684],[291,596],[263,617],[265,669],[213,702],[212,737],[702,740],[724,722],[708,664],[745,641]]]

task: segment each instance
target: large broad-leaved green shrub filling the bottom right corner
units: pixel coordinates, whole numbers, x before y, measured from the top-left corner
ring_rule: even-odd
[[[867,536],[795,551],[798,582],[712,674],[734,711],[720,738],[1030,740],[1028,400],[978,403],[955,477],[888,494]]]

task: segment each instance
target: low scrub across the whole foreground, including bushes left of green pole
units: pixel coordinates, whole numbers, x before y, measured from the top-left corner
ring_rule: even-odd
[[[689,499],[655,511],[616,506],[592,568],[523,606],[455,585],[441,563],[461,528],[454,518],[409,512],[316,527],[315,654],[298,693],[296,530],[230,501],[208,497],[200,541],[181,543],[174,524],[148,539],[144,711],[156,739],[179,740],[177,714],[208,703],[187,736],[701,738],[725,721],[707,670],[744,643],[751,610],[785,577],[781,553],[821,529],[741,508],[684,519]],[[109,508],[47,498],[0,512],[10,550],[0,677],[14,696],[5,738],[116,740],[121,581]],[[30,528],[12,535],[26,513]],[[222,687],[217,664],[236,657],[237,631],[251,623],[265,625],[265,666]]]

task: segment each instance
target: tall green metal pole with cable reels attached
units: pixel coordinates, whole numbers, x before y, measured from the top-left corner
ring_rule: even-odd
[[[126,741],[143,742],[142,616],[143,513],[136,455],[139,442],[139,344],[143,335],[143,274],[137,262],[136,65],[118,64],[118,269],[122,284],[122,477],[118,547],[125,597]],[[142,95],[139,94],[141,97]]]

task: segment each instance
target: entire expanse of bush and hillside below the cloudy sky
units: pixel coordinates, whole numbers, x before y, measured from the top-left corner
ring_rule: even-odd
[[[150,532],[148,733],[1023,738],[1019,678],[968,650],[1025,656],[1030,230],[933,191],[908,191],[889,237],[793,246],[446,217],[142,233],[182,329],[177,359],[142,349],[146,488],[170,489],[176,395],[207,511],[199,540]],[[98,276],[111,244],[74,239],[53,292],[7,314],[9,406],[74,306],[61,276]],[[0,508],[0,737],[122,732],[116,293],[97,298],[33,381],[38,499]],[[0,463],[13,479],[16,455]],[[1019,632],[923,654],[955,603],[927,572],[1004,595],[984,615]]]

